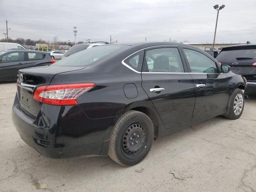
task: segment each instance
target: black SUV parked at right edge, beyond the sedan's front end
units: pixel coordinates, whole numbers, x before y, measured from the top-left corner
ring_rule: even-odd
[[[256,93],[256,44],[248,42],[222,48],[216,59],[247,79],[246,93]]]

